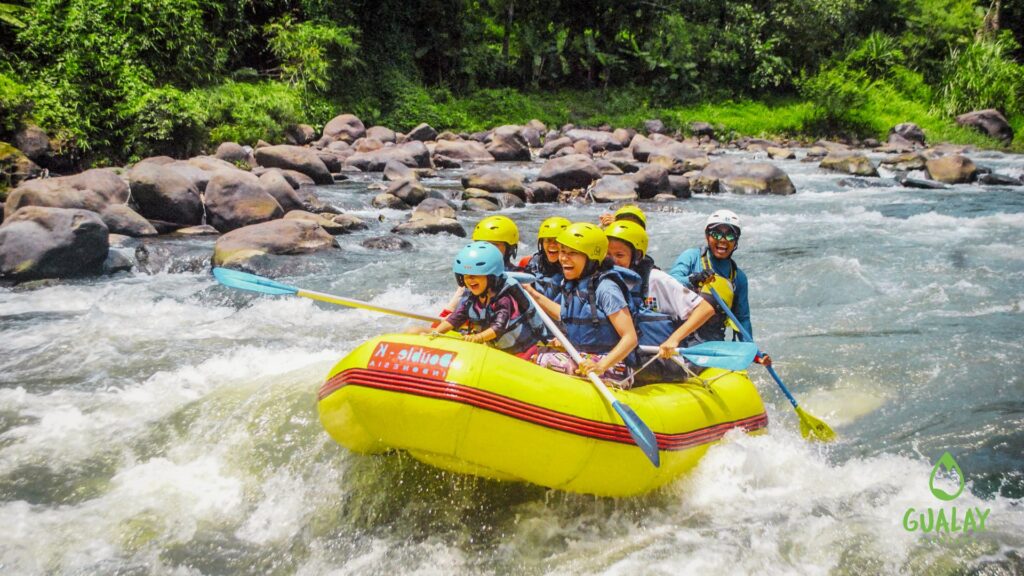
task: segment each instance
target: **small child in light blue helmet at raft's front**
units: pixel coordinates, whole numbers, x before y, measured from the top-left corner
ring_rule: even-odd
[[[463,339],[486,342],[494,347],[529,358],[537,349],[542,333],[540,319],[519,287],[505,274],[504,257],[488,242],[473,242],[456,255],[452,272],[460,287],[467,288],[452,314],[436,328],[415,327],[414,334],[444,333],[466,327]]]

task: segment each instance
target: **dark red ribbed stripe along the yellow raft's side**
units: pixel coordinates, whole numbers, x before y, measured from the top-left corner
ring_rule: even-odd
[[[472,386],[406,374],[382,374],[374,370],[352,368],[335,374],[334,377],[324,382],[317,394],[317,398],[318,400],[324,400],[346,385],[364,386],[458,402],[578,436],[618,442],[621,444],[633,444],[633,438],[630,436],[629,429],[622,424],[581,418],[580,416],[542,408]],[[685,450],[719,440],[733,428],[753,431],[764,428],[767,425],[768,414],[762,412],[749,418],[731,422],[721,422],[713,426],[687,433],[655,434],[654,436],[657,438],[657,447],[659,450]]]

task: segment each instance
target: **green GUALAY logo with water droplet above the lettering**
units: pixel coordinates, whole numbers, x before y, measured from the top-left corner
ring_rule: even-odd
[[[944,470],[944,472],[942,471]],[[956,477],[956,489],[949,492],[945,485],[939,485],[939,477]],[[959,464],[953,459],[952,454],[945,452],[935,462],[932,468],[932,476],[928,479],[928,487],[932,495],[943,502],[952,502],[964,492],[964,471]],[[985,521],[991,508],[979,508],[969,506],[957,508],[953,506],[927,507],[922,510],[907,508],[903,515],[903,529],[907,532],[921,531],[932,535],[935,538],[958,538],[974,535],[975,532],[984,532]]]

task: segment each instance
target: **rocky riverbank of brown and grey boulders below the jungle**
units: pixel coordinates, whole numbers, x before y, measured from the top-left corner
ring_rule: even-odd
[[[963,147],[928,147],[913,124],[895,126],[885,143],[861,142],[867,148],[831,141],[802,148],[756,138],[721,142],[711,126],[699,124],[687,137],[664,132],[656,120],[646,122],[642,132],[609,126],[549,129],[535,120],[472,134],[438,133],[421,124],[403,134],[367,128],[342,114],[321,134],[310,126],[294,127],[286,143],[223,142],[210,156],[154,157],[66,176],[51,176],[17,149],[0,143],[8,159],[4,165],[17,167],[9,171],[16,187],[4,199],[0,279],[150,272],[150,258],[160,249],[146,240],[157,236],[216,238],[212,254],[208,247],[183,243],[194,252],[185,258],[188,268],[212,261],[253,270],[265,256],[337,249],[337,236],[365,230],[368,222],[322,200],[317,187],[368,173],[374,181],[368,190],[377,193],[374,207],[408,210],[392,235],[466,236],[465,212],[526,203],[791,195],[796,187],[778,163],[795,158],[863,178],[879,177],[882,169],[913,188],[1024,186],[1020,172],[993,173],[965,156]],[[509,164],[523,162],[540,164],[536,176]],[[460,174],[462,190],[431,187],[437,170]],[[395,236],[372,240],[365,244],[406,245]]]

